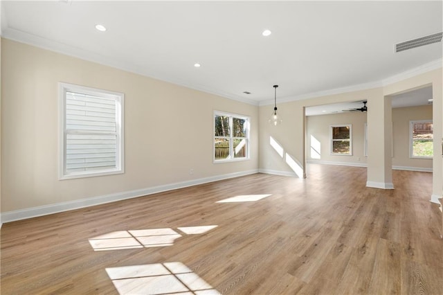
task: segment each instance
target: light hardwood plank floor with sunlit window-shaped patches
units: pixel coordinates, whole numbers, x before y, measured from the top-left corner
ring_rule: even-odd
[[[1,294],[443,294],[432,175],[393,177],[312,164],[3,224]]]

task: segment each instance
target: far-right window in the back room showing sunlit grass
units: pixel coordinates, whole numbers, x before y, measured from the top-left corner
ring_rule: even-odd
[[[433,157],[432,120],[410,121],[410,157]]]

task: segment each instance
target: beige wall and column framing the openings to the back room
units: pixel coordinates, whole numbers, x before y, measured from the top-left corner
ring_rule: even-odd
[[[410,77],[410,75],[409,75]],[[433,86],[434,152],[441,153],[442,145],[442,68],[420,73],[383,87],[339,93],[330,96],[297,100],[278,104],[283,124],[278,128],[269,126],[268,117],[272,106],[260,107],[260,170],[263,172],[291,173],[291,168],[269,144],[275,138],[284,151],[291,154],[305,169],[305,117],[304,108],[336,102],[368,100],[368,181],[367,186],[392,188],[392,109],[390,96],[419,87]],[[442,157],[433,158],[433,195],[442,196]],[[307,175],[309,177],[309,175]]]

